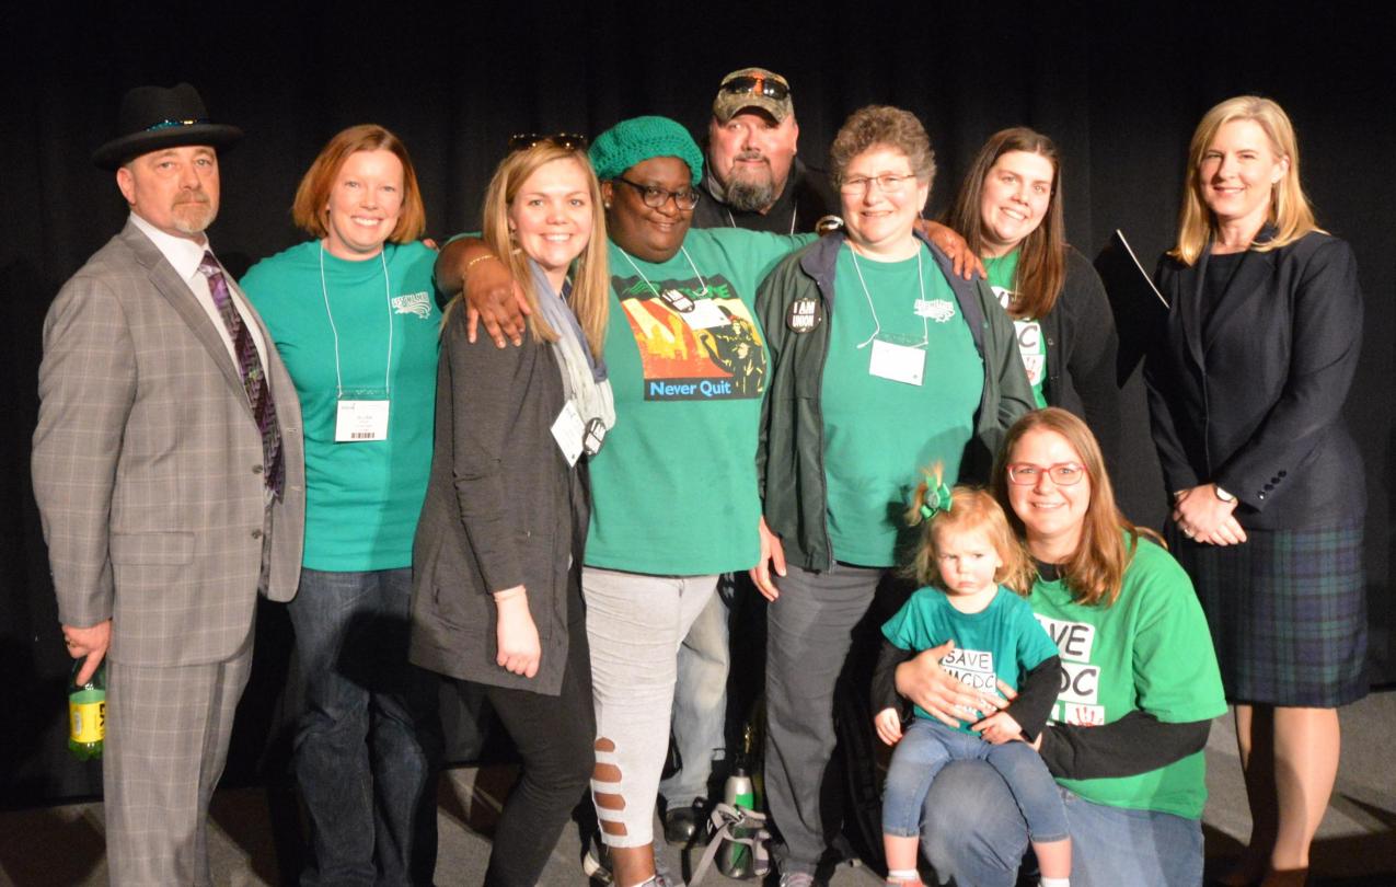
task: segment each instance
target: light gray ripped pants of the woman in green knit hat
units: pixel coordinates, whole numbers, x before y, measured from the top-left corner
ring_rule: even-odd
[[[596,703],[592,799],[610,846],[653,841],[678,645],[716,587],[716,574],[582,569]]]

